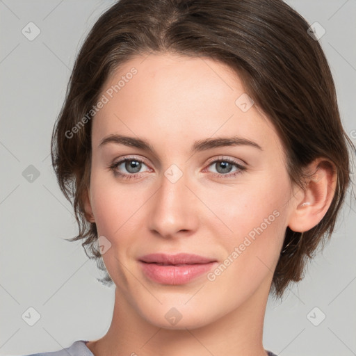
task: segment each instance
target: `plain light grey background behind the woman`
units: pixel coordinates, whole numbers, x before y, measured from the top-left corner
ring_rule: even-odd
[[[102,274],[80,242],[64,240],[77,227],[57,186],[49,143],[79,45],[112,3],[0,0],[1,355],[98,339],[111,323],[113,287],[97,282]],[[356,143],[356,1],[288,3],[326,30],[320,42],[344,127]],[[22,34],[29,22],[41,31],[33,41]],[[40,173],[32,182],[22,175],[33,170],[29,165]],[[305,279],[289,287],[282,303],[268,300],[265,348],[282,356],[356,355],[355,211],[349,195],[337,232],[309,264]],[[29,307],[40,314],[33,326],[22,318]]]

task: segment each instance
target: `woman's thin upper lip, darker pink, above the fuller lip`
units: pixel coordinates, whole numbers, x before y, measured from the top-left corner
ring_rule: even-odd
[[[164,254],[164,253],[152,253],[145,254],[139,258],[139,261],[146,263],[156,263],[156,264],[209,264],[210,262],[215,262],[215,259],[209,257],[203,257],[198,254]]]

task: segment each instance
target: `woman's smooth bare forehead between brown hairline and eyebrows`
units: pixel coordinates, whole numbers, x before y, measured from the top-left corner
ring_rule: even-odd
[[[104,136],[120,133],[177,149],[188,140],[238,135],[282,149],[263,113],[236,104],[245,96],[237,74],[210,58],[136,57],[104,84],[100,97],[106,104],[93,120],[92,144],[97,147]]]

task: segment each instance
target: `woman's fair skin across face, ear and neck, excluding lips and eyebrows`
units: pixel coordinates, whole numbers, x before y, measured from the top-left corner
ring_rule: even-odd
[[[336,177],[322,164],[304,191],[291,184],[273,125],[256,105],[246,112],[236,106],[245,89],[229,67],[172,54],[136,57],[108,78],[102,94],[132,67],[137,74],[92,121],[83,199],[86,218],[111,243],[103,259],[116,288],[108,332],[87,346],[95,356],[266,355],[264,314],[284,232],[287,226],[307,231],[323,218]],[[148,140],[155,153],[115,143],[99,147],[113,133]],[[261,150],[237,145],[191,154],[195,140],[233,134]],[[131,155],[144,161],[138,177],[124,179],[108,168]],[[231,177],[238,168],[232,164],[224,173],[214,159],[246,169]],[[172,164],[183,174],[175,183],[164,175]],[[124,164],[116,170],[133,175]],[[204,274],[179,286],[159,284],[138,264],[154,252],[195,253],[221,264],[273,211],[278,217],[214,281]],[[182,316],[175,325],[165,318],[172,307]]]

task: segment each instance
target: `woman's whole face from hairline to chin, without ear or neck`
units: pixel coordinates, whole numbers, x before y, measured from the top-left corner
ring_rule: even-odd
[[[238,76],[207,58],[151,54],[115,72],[100,98],[86,211],[122,304],[183,328],[266,299],[293,189],[281,140]],[[172,257],[181,253],[201,259]]]

